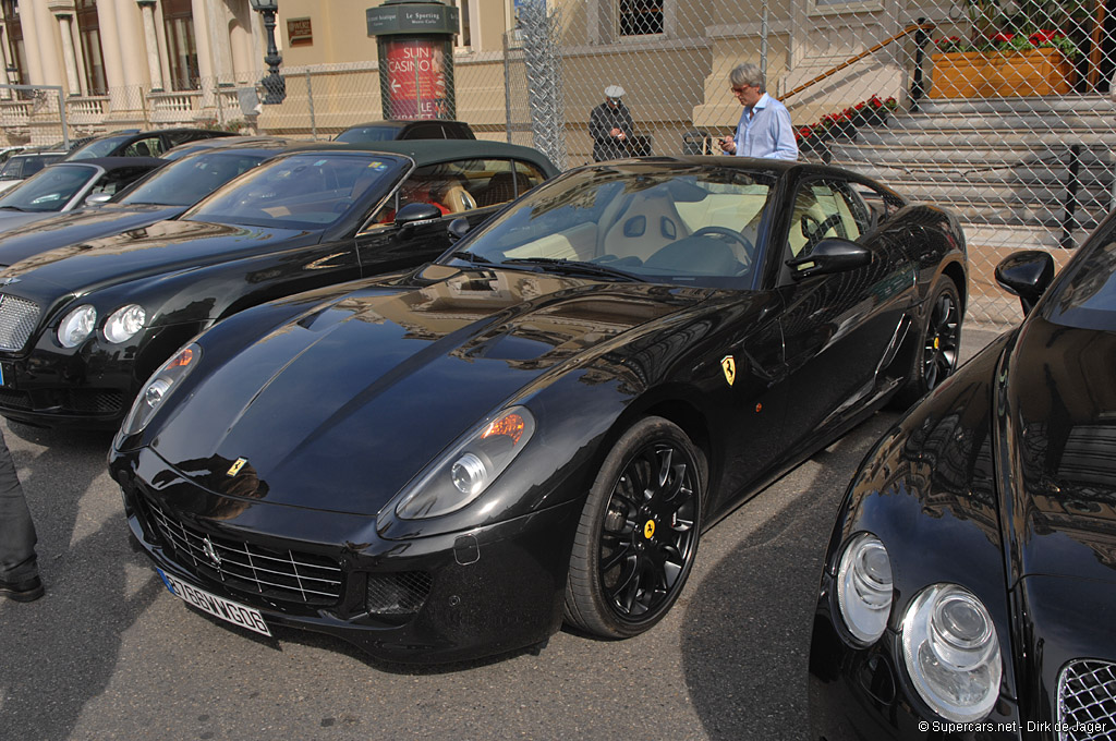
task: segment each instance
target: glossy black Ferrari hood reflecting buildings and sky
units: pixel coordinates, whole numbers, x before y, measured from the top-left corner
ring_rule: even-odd
[[[153,450],[211,491],[228,492],[234,480],[227,472],[244,458],[266,501],[375,514],[440,451],[543,374],[602,383],[585,363],[603,345],[705,296],[439,269],[452,277],[372,285],[308,305],[308,314],[211,371],[158,430]],[[217,359],[205,365],[205,353],[203,338],[203,367],[212,368]]]

